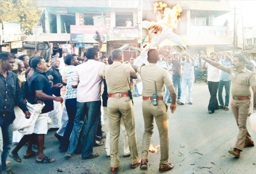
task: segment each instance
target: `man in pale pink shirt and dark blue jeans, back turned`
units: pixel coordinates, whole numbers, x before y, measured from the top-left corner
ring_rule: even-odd
[[[71,140],[65,157],[71,157],[74,153],[83,125],[84,140],[82,159],[96,158],[100,154],[93,152],[94,137],[100,117],[101,108],[101,82],[99,72],[105,65],[99,62],[98,48],[89,48],[86,52],[87,62],[75,67],[72,79],[72,87],[77,88],[77,112],[74,119],[74,127]]]

